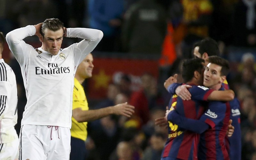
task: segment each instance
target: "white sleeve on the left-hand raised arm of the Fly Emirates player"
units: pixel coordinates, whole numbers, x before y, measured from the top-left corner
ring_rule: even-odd
[[[35,34],[36,27],[34,25],[18,28],[6,34],[6,42],[20,64],[25,63],[24,60],[28,59],[28,53],[33,48],[26,44],[23,39]]]

